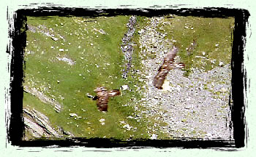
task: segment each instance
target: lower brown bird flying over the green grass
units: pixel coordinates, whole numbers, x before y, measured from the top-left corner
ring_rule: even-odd
[[[120,94],[120,91],[118,89],[107,91],[107,89],[105,89],[105,86],[97,87],[94,92],[97,92],[97,96],[94,97],[93,100],[97,100],[97,107],[100,111],[108,111],[109,97],[114,97]]]

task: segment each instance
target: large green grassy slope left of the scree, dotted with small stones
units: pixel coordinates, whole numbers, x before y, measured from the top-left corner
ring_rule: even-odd
[[[47,20],[29,17],[29,25],[45,25],[45,31],[52,28],[53,34],[57,38],[60,34],[65,41],[53,41],[42,33],[27,31],[26,52],[34,54],[27,54],[25,57],[24,85],[37,87],[63,105],[61,113],[56,113],[52,106],[25,93],[23,106],[39,110],[50,118],[53,126],[61,126],[75,134],[75,137],[147,137],[146,124],[128,119],[127,116],[134,110],[130,106],[122,106],[131,101],[130,97],[135,92],[123,92],[123,96],[110,98],[108,113],[99,112],[96,101],[86,97],[86,93],[94,94],[93,90],[97,86],[118,89],[132,80],[121,79],[123,55],[120,44],[127,31],[125,24],[128,19],[125,16],[95,19],[51,17]],[[93,31],[94,28],[102,28],[108,34]],[[59,52],[59,49],[64,49],[64,52]],[[75,60],[76,64],[71,66],[59,61],[56,59],[59,56]],[[76,113],[82,118],[75,120],[69,117],[69,113]],[[105,125],[100,124],[101,118],[105,118]],[[130,126],[137,127],[137,132],[133,132],[133,129],[127,131],[119,121],[126,121]]]

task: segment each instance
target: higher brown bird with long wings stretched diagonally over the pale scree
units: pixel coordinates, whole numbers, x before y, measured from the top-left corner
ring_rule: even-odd
[[[177,52],[178,49],[176,47],[173,47],[172,51],[167,52],[167,55],[164,58],[164,63],[158,69],[158,73],[153,80],[153,84],[157,89],[162,89],[162,84],[164,84],[165,78],[171,69],[184,68],[183,63],[175,63],[174,61]]]

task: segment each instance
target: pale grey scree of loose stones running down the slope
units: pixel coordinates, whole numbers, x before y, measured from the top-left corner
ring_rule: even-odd
[[[146,107],[141,115],[154,119],[154,127],[148,127],[151,139],[158,139],[157,132],[164,132],[173,138],[195,137],[205,140],[233,140],[230,127],[231,69],[230,65],[219,65],[211,71],[192,68],[190,75],[184,71],[168,73],[163,89],[153,86],[154,76],[170,51],[173,41],[165,39],[166,34],[157,31],[163,17],[152,17],[151,22],[140,33],[143,71],[140,81],[145,85],[140,90],[143,98],[138,104]],[[156,57],[145,57],[155,55]],[[201,58],[201,62],[206,57]],[[176,57],[178,60],[178,57]],[[164,124],[164,125],[163,125]]]

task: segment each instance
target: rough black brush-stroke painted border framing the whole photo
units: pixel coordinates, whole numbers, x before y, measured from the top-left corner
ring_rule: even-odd
[[[12,55],[10,65],[10,126],[7,126],[7,140],[11,145],[20,147],[47,147],[58,145],[59,147],[84,146],[95,148],[242,148],[246,146],[246,124],[244,97],[246,91],[246,71],[244,70],[244,49],[246,37],[246,24],[248,24],[249,12],[245,9],[227,8],[203,8],[203,9],[83,9],[83,8],[61,8],[61,7],[39,7],[39,9],[18,9],[15,12],[14,27],[9,29],[9,36],[12,43],[7,46],[7,53]],[[232,47],[232,97],[231,120],[233,121],[234,139],[227,140],[130,140],[121,141],[116,139],[85,139],[72,138],[67,140],[45,139],[45,140],[21,140],[24,132],[23,124],[23,68],[26,65],[23,60],[23,53],[26,47],[26,31],[20,32],[23,27],[23,20],[26,16],[47,17],[50,15],[97,17],[101,15],[141,15],[146,17],[161,15],[181,15],[197,17],[235,17],[235,29],[233,31]],[[8,15],[8,12],[7,12]],[[10,16],[10,15],[9,15]],[[12,23],[12,21],[9,21]],[[27,28],[26,28],[27,30]],[[13,47],[12,52],[10,46]]]

